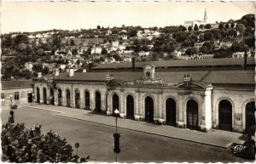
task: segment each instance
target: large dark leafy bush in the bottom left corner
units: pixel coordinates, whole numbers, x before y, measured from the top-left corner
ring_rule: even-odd
[[[49,131],[41,134],[41,126],[26,129],[24,123],[3,124],[2,161],[25,162],[86,162],[86,158],[73,155],[73,149],[66,139]]]

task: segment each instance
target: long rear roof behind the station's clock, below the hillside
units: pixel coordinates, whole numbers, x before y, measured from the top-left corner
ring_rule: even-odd
[[[234,59],[234,58],[220,58],[220,59],[195,59],[195,60],[161,60],[161,61],[144,61],[135,62],[136,68],[142,68],[145,64],[155,65],[155,68],[164,67],[202,67],[202,66],[229,66],[229,65],[244,65],[244,59]],[[255,65],[253,57],[247,58],[247,65]],[[92,70],[102,70],[102,69],[122,69],[131,68],[131,63],[113,63],[96,65]]]

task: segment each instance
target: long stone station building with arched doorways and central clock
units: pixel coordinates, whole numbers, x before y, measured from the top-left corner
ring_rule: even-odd
[[[169,67],[132,62],[120,64],[127,69],[112,64],[113,69],[97,65],[90,72],[56,70],[53,76],[33,79],[35,101],[71,107],[74,112],[93,110],[111,116],[118,109],[126,119],[244,133],[255,125],[255,73],[247,69],[254,59],[232,61],[202,59],[205,66],[200,65],[200,71],[194,60],[178,68],[170,61]]]

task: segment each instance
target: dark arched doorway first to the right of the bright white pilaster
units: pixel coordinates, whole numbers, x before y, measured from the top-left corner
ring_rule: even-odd
[[[232,131],[232,105],[226,99],[218,103],[218,129]]]

